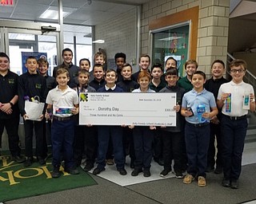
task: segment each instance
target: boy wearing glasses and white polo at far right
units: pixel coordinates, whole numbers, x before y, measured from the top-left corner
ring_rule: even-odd
[[[230,64],[232,80],[222,84],[217,104],[222,108],[222,158],[224,179],[222,186],[238,189],[242,167],[242,151],[247,130],[248,110],[255,110],[254,88],[242,78],[246,74],[246,61],[234,60]]]

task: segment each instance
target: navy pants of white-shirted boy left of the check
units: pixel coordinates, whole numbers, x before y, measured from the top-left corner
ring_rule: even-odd
[[[60,167],[63,155],[65,169],[73,168],[74,120],[53,120],[51,124],[51,140],[53,148],[53,166]]]

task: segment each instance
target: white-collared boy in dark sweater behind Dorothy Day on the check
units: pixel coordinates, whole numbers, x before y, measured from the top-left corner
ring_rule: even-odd
[[[117,73],[114,69],[108,69],[106,71],[106,84],[102,88],[98,88],[97,92],[123,92],[122,88],[115,84],[117,80]],[[122,147],[122,127],[121,126],[98,126],[98,166],[94,169],[93,174],[98,175],[102,171],[105,171],[106,166],[106,153],[109,146],[110,138],[113,143],[114,161],[116,163],[117,170],[120,175],[126,175],[125,170],[125,158],[123,155]]]

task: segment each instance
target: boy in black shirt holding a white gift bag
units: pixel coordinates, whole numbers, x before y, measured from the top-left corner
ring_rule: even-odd
[[[27,72],[18,78],[18,107],[24,121],[25,128],[25,151],[26,162],[25,167],[29,167],[34,162],[33,157],[33,135],[35,132],[36,139],[36,156],[38,163],[45,164],[46,158],[46,135],[44,135],[45,120],[43,114],[40,116],[41,121],[29,120],[29,116],[25,111],[25,100],[38,96],[40,102],[46,102],[48,89],[46,87],[46,78],[42,77],[38,72],[38,61],[36,57],[30,56],[26,58]]]

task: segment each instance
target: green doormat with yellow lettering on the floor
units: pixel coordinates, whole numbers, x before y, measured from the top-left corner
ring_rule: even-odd
[[[58,179],[51,177],[51,171],[50,159],[46,160],[45,165],[35,162],[30,167],[24,167],[23,163],[12,161],[10,155],[3,155],[2,152],[0,156],[0,202],[97,184],[80,167],[79,175],[70,175],[61,167],[62,175]]]

